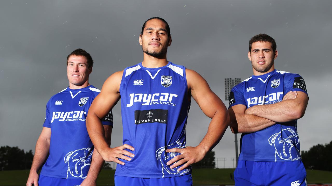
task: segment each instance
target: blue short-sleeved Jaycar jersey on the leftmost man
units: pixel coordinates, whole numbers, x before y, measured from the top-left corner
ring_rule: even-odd
[[[77,179],[87,176],[94,146],[85,119],[99,92],[92,85],[81,89],[68,87],[49,99],[43,126],[51,128],[51,140],[41,175]],[[102,123],[113,126],[112,111]]]

